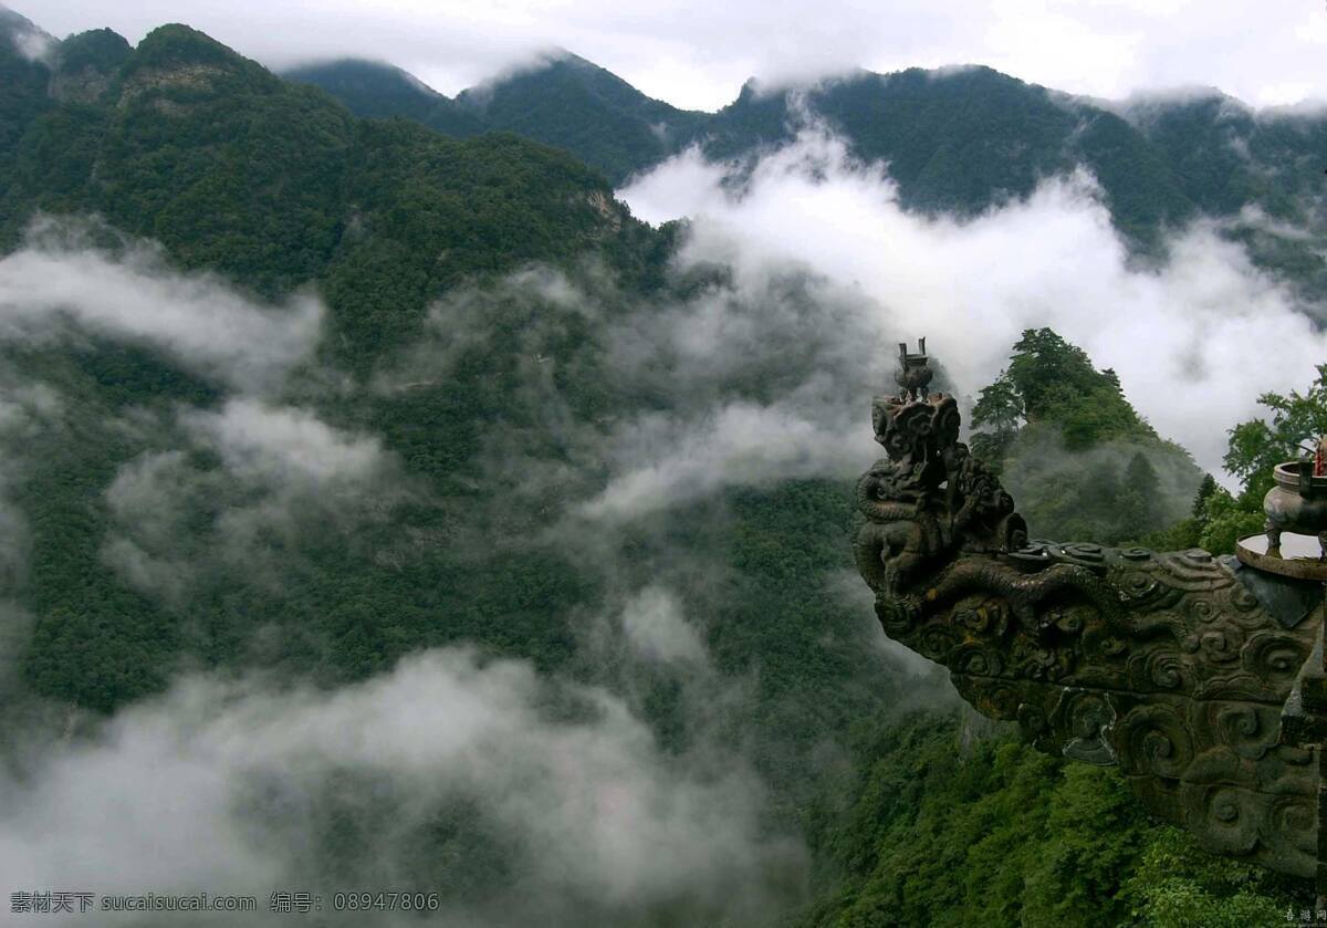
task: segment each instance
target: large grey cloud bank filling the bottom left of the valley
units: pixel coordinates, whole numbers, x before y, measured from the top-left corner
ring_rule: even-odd
[[[318,797],[364,826],[368,846],[341,848],[352,882],[402,888],[431,888],[411,839],[470,810],[514,859],[453,923],[759,921],[802,879],[798,846],[762,832],[763,789],[740,762],[664,755],[613,696],[466,651],[333,693],[184,680],[25,773],[0,782],[0,871],[16,887],[210,887],[264,905],[293,883],[344,888],[314,866]]]

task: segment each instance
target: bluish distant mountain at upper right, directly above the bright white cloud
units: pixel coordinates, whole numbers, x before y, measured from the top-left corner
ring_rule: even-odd
[[[1322,113],[1254,112],[1213,90],[1089,101],[979,66],[863,72],[804,92],[743,89],[715,114],[706,151],[731,158],[786,143],[799,113],[827,122],[859,158],[884,162],[910,208],[975,215],[1083,167],[1143,254],[1206,216],[1302,292],[1327,285]]]

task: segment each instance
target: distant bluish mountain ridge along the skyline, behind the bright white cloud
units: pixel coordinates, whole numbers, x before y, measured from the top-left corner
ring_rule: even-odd
[[[1327,118],[1254,112],[1217,90],[1112,104],[985,66],[913,68],[775,92],[748,81],[719,112],[697,113],[571,54],[455,100],[397,68],[357,60],[285,77],[321,86],[362,116],[417,118],[459,137],[515,131],[567,149],[613,185],[691,145],[738,161],[787,145],[805,116],[841,134],[857,158],[885,162],[902,204],[925,212],[977,215],[1082,166],[1141,252],[1209,215],[1265,267],[1306,288],[1327,284]]]

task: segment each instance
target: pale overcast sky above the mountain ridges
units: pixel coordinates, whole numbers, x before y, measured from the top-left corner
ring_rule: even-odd
[[[1074,93],[1218,86],[1327,98],[1323,0],[5,0],[57,37],[184,21],[269,66],[389,60],[454,94],[561,46],[650,96],[730,102],[751,76],[986,64]]]

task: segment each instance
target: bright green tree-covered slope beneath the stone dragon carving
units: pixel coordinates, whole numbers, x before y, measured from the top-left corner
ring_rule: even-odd
[[[843,805],[817,818],[840,882],[808,925],[1273,924],[1311,899],[1151,822],[1113,767],[1006,737],[958,750],[957,720],[932,713],[860,737]],[[1257,920],[1222,920],[1239,916]]]

